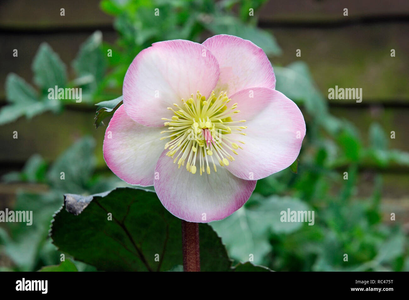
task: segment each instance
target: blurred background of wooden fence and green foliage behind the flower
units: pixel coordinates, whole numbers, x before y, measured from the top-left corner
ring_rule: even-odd
[[[64,193],[125,185],[102,156],[109,112],[94,120],[109,104],[95,104],[121,96],[138,52],[233,34],[266,52],[307,134],[298,168],[211,223],[229,255],[275,271],[409,271],[408,32],[406,0],[3,0],[0,210],[32,210],[34,223],[0,223],[0,270],[58,264],[47,236]],[[50,101],[55,85],[83,88],[82,102]],[[362,102],[329,100],[335,86],[362,88]],[[286,208],[314,210],[314,226],[283,226],[272,216]]]

